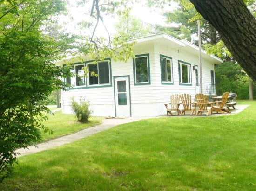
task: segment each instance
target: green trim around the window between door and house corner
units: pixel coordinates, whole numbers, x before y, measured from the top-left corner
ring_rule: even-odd
[[[145,68],[144,68],[144,73],[142,71],[141,74],[140,74],[136,71],[136,65],[139,64],[139,63],[136,63],[136,60],[137,61],[143,61],[143,59],[145,59],[145,58],[147,59],[147,64],[146,64],[146,66],[147,66],[147,76],[144,74],[145,73]],[[141,70],[143,70],[143,68],[141,68]],[[148,85],[148,84],[150,84],[149,54],[135,55],[135,58],[133,58],[133,77],[134,77],[134,85]],[[145,79],[147,79],[147,81]],[[137,82],[139,80],[145,80],[145,81],[144,82]]]

